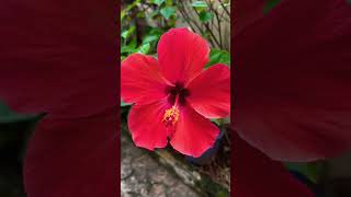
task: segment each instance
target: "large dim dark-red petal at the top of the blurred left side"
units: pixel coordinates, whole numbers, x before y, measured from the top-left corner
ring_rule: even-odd
[[[117,106],[110,8],[91,0],[2,2],[0,97],[18,112],[65,117]]]

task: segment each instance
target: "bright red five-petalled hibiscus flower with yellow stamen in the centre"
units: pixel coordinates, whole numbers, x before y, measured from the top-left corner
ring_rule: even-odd
[[[168,138],[179,152],[200,157],[214,144],[218,128],[207,118],[230,112],[230,71],[225,65],[204,70],[210,47],[186,28],[159,40],[158,59],[134,54],[121,67],[121,96],[135,103],[128,117],[133,140],[149,150]]]

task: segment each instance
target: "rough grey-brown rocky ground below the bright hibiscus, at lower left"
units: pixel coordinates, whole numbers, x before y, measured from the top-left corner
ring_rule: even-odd
[[[173,173],[151,155],[133,144],[126,134],[121,135],[121,196],[122,197],[197,197]]]

